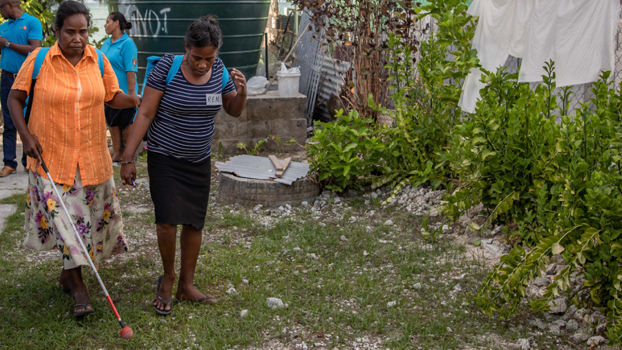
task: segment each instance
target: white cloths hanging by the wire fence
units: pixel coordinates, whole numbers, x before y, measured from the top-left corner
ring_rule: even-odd
[[[619,0],[474,0],[467,13],[480,17],[473,48],[485,70],[512,55],[522,59],[519,82],[542,81],[552,59],[557,86],[569,86],[615,69]],[[475,112],[481,77],[473,68],[464,81],[458,106],[465,112]]]

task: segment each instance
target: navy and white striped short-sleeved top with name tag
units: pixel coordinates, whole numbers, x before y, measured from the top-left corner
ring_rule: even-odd
[[[173,57],[171,54],[162,57],[147,78],[147,86],[164,91],[156,118],[149,126],[147,148],[189,162],[202,162],[211,155],[214,117],[222,107],[222,102],[220,105],[208,105],[207,96],[234,93],[236,86],[229,75],[223,90],[225,65],[220,57],[216,57],[211,66],[207,84],[191,84],[180,68],[167,86]]]

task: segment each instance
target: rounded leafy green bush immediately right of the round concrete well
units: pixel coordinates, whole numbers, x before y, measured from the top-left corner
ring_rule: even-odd
[[[308,144],[310,171],[332,191],[369,184],[373,173],[381,168],[384,143],[377,124],[356,111],[343,115],[339,110],[332,123],[316,121],[318,128]]]

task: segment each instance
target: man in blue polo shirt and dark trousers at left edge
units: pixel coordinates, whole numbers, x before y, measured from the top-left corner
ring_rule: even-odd
[[[19,0],[0,0],[0,13],[8,20],[0,24],[0,104],[4,119],[4,168],[0,171],[0,177],[6,177],[17,171],[17,129],[6,106],[6,99],[26,56],[41,46],[43,28],[39,19],[21,10]],[[21,163],[26,166],[26,155],[22,155]]]

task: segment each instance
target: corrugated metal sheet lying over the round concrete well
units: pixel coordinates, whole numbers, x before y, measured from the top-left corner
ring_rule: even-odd
[[[283,162],[283,159],[279,159]],[[309,164],[290,162],[280,179],[276,178],[276,168],[267,157],[254,155],[238,155],[229,159],[229,162],[216,162],[216,168],[223,173],[232,173],[247,179],[273,180],[281,184],[291,185],[297,179],[307,176]]]

